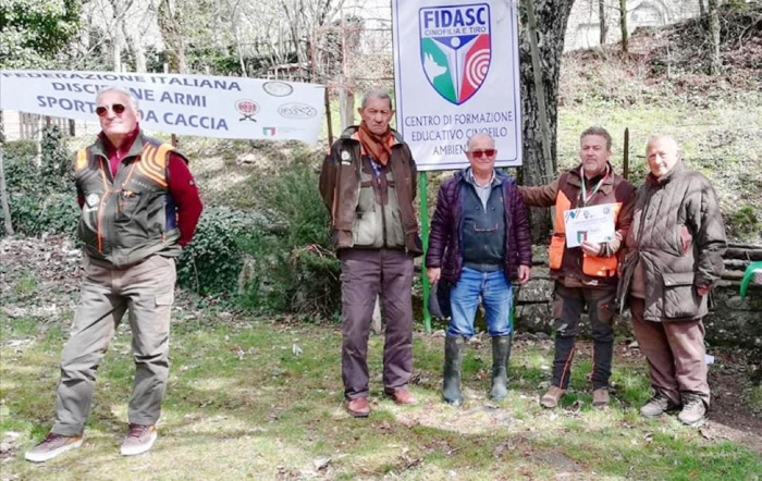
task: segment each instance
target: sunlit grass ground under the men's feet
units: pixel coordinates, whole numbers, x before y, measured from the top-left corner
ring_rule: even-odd
[[[23,452],[50,425],[65,329],[3,320],[4,341],[28,340],[21,346],[5,341],[0,351],[0,437],[21,434],[3,472],[57,480],[548,479],[563,472],[575,479],[743,479],[762,470],[762,457],[747,446],[704,440],[673,417],[640,419],[648,381],[639,363],[615,362],[618,392],[599,411],[590,408],[590,361],[580,353],[572,395],[562,409],[545,410],[537,397],[550,377],[543,369],[551,362],[550,342],[514,344],[512,390],[499,404],[486,398],[489,343],[469,346],[467,402],[455,409],[440,397],[444,340],[417,333],[411,388],[420,404],[400,407],[382,396],[383,340],[372,336],[373,411],[355,420],[342,406],[336,326],[253,317],[222,321],[210,312],[175,317],[160,437],[149,455],[118,455],[133,372],[128,330],[120,326],[99,370],[85,445],[39,466],[24,461]]]

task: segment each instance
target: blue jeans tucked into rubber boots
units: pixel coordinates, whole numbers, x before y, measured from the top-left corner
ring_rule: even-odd
[[[460,279],[453,286],[450,306],[453,316],[450,319],[447,335],[474,335],[474,318],[481,296],[487,309],[487,329],[491,336],[506,336],[513,332],[511,308],[513,306],[513,286],[506,281],[502,270],[492,272],[463,268]]]

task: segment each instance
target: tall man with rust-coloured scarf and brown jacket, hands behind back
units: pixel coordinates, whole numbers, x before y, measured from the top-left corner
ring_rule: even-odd
[[[320,193],[331,211],[333,242],[342,263],[342,378],[346,408],[370,415],[368,335],[377,294],[386,317],[384,394],[415,404],[413,371],[413,257],[422,254],[413,200],[416,164],[400,134],[389,127],[392,100],[369,91],[362,122],[347,128],[325,156]]]

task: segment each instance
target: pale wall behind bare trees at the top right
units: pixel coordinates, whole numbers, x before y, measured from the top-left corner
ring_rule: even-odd
[[[703,0],[705,1],[705,0]],[[606,44],[622,40],[619,0],[605,0]],[[699,0],[627,0],[627,30],[659,27],[699,16]],[[564,50],[577,50],[600,45],[601,23],[599,0],[576,0],[572,9]]]

